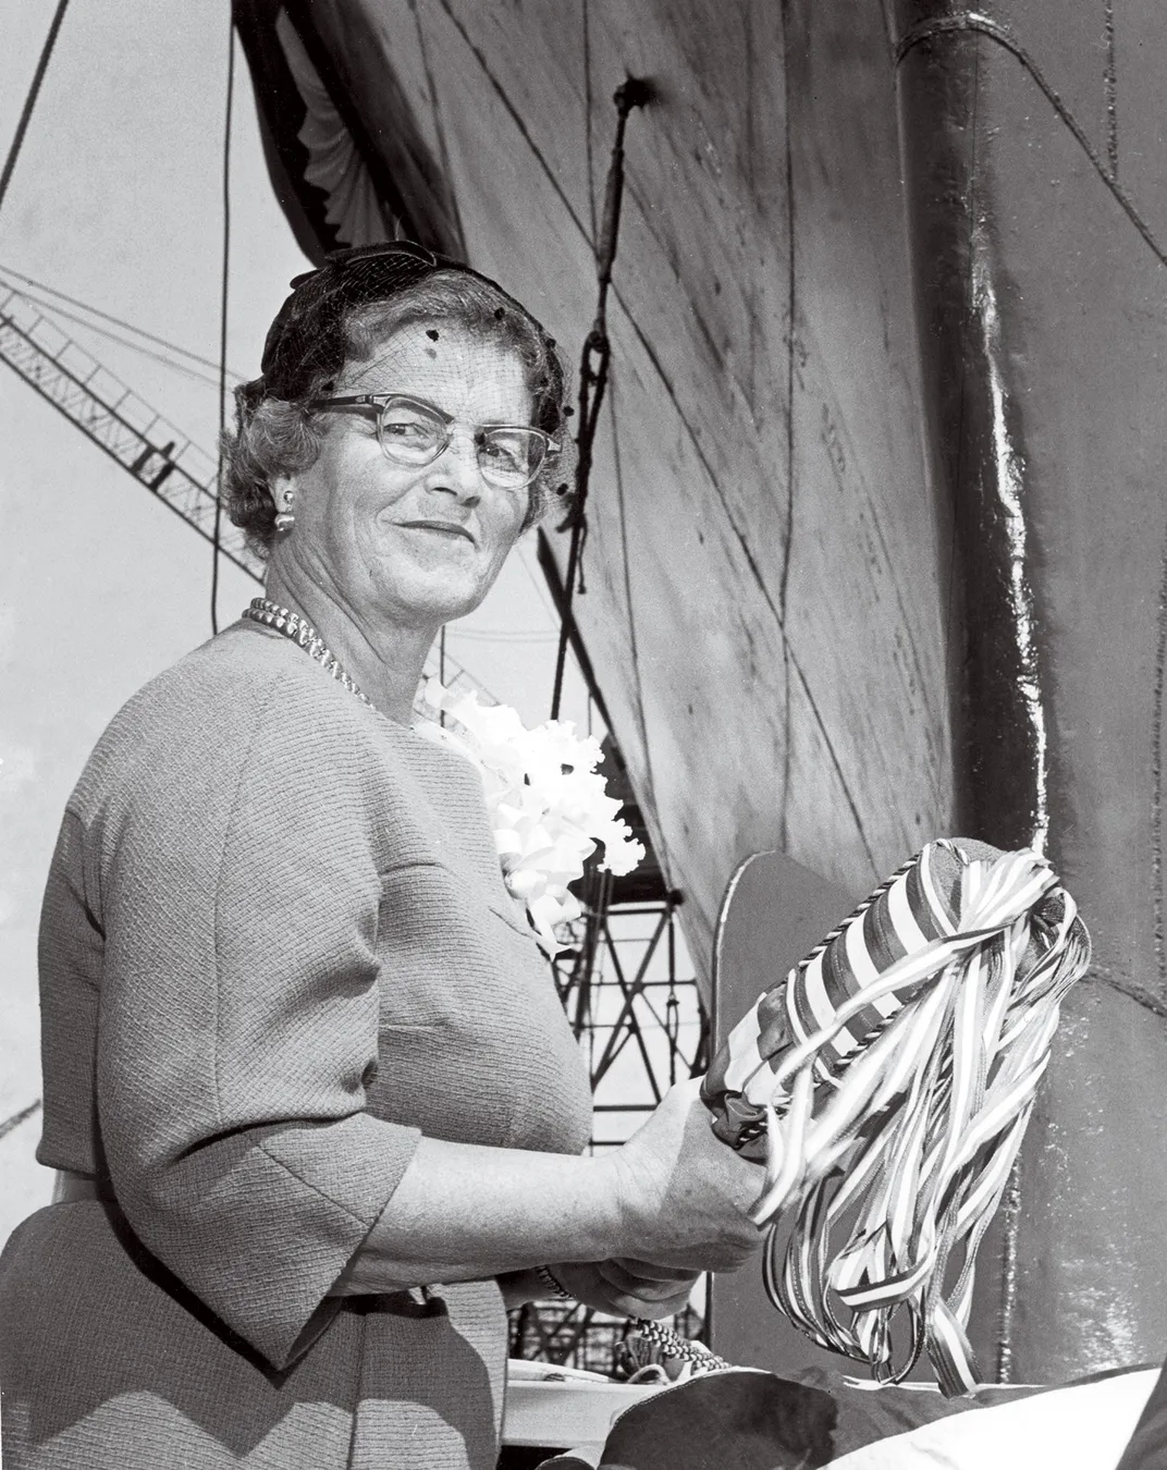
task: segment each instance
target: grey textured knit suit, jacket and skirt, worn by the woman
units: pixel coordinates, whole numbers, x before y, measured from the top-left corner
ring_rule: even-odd
[[[94,751],[41,1010],[38,1158],[103,1200],[0,1261],[6,1464],[492,1466],[497,1286],[326,1295],[422,1133],[588,1138],[476,770],[235,625]]]

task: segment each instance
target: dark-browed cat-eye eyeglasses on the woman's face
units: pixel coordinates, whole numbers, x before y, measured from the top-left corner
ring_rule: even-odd
[[[457,419],[407,392],[359,392],[344,398],[312,398],[309,409],[373,409],[376,437],[394,465],[432,465],[450,448]],[[482,478],[500,490],[523,490],[560,445],[542,429],[514,423],[473,423],[475,456]]]

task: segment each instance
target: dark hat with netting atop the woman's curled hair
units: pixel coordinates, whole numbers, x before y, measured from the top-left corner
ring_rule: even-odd
[[[438,270],[459,270],[484,282],[539,334],[548,348],[553,340],[522,303],[489,276],[472,270],[460,260],[435,254],[425,245],[401,240],[378,245],[357,245],[331,254],[316,270],[291,282],[263,344],[262,376],[254,385],[256,400],[306,397],[320,375],[335,378],[344,368],[347,340],[345,315],[359,306],[391,300]],[[548,351],[554,360],[554,353]]]

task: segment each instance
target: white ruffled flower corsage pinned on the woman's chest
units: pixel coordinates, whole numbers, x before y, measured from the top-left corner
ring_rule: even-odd
[[[603,844],[600,866],[622,875],[644,857],[595,769],[600,741],[578,736],[570,720],[526,729],[509,706],[481,704],[476,694],[438,679],[426,681],[422,698],[434,719],[416,731],[457,750],[482,775],[503,881],[526,904],[539,945],[554,958],[564,948],[556,926],[581,914],[567,885],[582,878],[585,858]],[[439,725],[441,714],[453,726]]]

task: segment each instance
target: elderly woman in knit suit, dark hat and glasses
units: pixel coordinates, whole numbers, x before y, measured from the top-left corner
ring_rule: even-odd
[[[564,373],[413,245],[294,282],[228,444],[266,600],[116,716],[44,901],[4,1464],[488,1470],[504,1307],[676,1310],[758,1169],[691,1085],[603,1157],[478,772],[412,728],[556,484]]]

